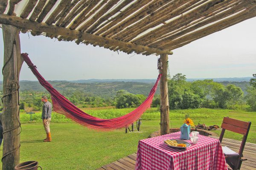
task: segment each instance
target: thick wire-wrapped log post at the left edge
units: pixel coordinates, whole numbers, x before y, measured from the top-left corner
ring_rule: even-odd
[[[18,105],[20,37],[17,27],[2,25],[3,29],[3,170],[14,170],[20,161],[20,117]]]

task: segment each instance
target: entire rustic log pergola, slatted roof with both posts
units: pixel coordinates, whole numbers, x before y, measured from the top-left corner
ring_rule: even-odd
[[[160,55],[161,134],[169,132],[168,54],[201,37],[256,17],[256,0],[0,0],[3,29],[3,170],[20,159],[19,32]]]

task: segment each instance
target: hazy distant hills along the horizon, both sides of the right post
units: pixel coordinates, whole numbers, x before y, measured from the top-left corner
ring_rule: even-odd
[[[212,79],[212,78],[209,78]],[[249,85],[251,77],[239,78],[213,78],[213,81],[220,82],[223,85],[234,84],[244,91]],[[203,80],[202,79],[187,79],[187,81]],[[50,84],[58,91],[84,91],[102,97],[113,97],[116,91],[125,90],[132,94],[148,95],[155,79],[87,79],[75,81],[49,81]],[[3,89],[3,81],[0,81],[0,91]],[[20,91],[46,91],[38,81],[20,81]],[[160,89],[157,89],[156,94],[160,94]]]

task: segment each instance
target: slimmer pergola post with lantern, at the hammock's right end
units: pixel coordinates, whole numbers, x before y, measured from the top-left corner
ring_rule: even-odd
[[[165,135],[169,133],[169,99],[167,84],[168,54],[161,54],[160,59],[163,67],[160,80],[160,134]]]

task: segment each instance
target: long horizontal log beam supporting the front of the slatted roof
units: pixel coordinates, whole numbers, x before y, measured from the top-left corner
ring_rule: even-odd
[[[111,46],[119,46],[123,48],[130,48],[136,51],[148,51],[157,54],[173,54],[169,50],[161,50],[157,48],[151,48],[143,45],[137,45],[131,42],[123,42],[108,37],[102,37],[94,34],[89,34],[86,32],[81,32],[78,30],[71,30],[69,28],[58,27],[54,25],[47,25],[46,23],[38,23],[36,21],[31,21],[23,19],[16,16],[9,16],[6,14],[0,14],[0,23],[8,24],[12,26],[17,26],[21,28],[32,29],[33,31],[45,32],[49,34],[61,35],[65,37],[71,37],[75,39],[88,40],[90,42],[98,42],[102,44],[108,44]]]

